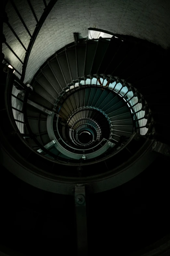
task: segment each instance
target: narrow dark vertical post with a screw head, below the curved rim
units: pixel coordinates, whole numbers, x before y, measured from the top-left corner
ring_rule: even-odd
[[[87,216],[85,186],[78,184],[75,186],[75,206],[77,222],[77,248],[78,256],[87,256]]]

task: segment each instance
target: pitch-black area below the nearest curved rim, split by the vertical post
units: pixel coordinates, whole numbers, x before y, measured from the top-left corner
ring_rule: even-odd
[[[77,254],[74,197],[52,194],[1,169],[1,250]],[[168,234],[169,162],[157,158],[128,183],[87,195],[89,254],[131,255]]]

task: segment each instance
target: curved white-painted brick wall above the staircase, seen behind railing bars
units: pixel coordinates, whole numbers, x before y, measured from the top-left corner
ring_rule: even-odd
[[[25,23],[30,31],[33,31],[35,19],[27,8],[26,1],[15,0],[15,2],[22,11]],[[36,14],[40,15],[44,8],[43,1],[32,0],[33,2]],[[11,25],[17,34],[20,33],[20,39],[27,46],[28,33],[25,32],[9,4],[7,14],[13,21]],[[73,32],[79,32],[81,37],[87,37],[88,27],[132,35],[168,48],[170,46],[169,16],[169,0],[58,0],[35,41],[28,61],[25,82],[30,82],[39,67],[53,53],[74,41]],[[7,32],[6,38],[12,49],[19,53],[23,60],[25,51],[10,31]],[[21,72],[21,64],[12,56],[13,54],[6,47],[3,48],[3,52],[8,60],[12,60],[11,64]]]

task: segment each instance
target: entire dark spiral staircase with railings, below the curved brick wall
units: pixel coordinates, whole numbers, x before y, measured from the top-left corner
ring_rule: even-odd
[[[50,12],[53,2],[45,5],[44,16]],[[14,2],[11,3],[17,10]],[[4,17],[3,22],[8,23]],[[38,26],[42,24],[39,22]],[[22,191],[32,193],[28,196],[32,203],[28,203],[26,212],[37,207],[35,198],[40,194],[52,204],[64,201],[57,209],[45,201],[47,209],[53,209],[50,210],[55,215],[53,223],[58,218],[66,223],[66,234],[62,234],[63,226],[56,227],[61,235],[52,233],[59,241],[59,250],[68,247],[64,248],[64,253],[68,249],[73,253],[78,250],[78,255],[93,255],[100,250],[108,254],[113,239],[115,255],[169,255],[169,210],[165,206],[169,193],[168,174],[165,170],[160,173],[162,166],[165,169],[169,164],[170,155],[166,121],[170,108],[169,88],[161,86],[169,70],[169,52],[141,39],[110,34],[111,38],[87,39],[74,33],[73,42],[46,60],[30,84],[23,82],[30,53],[25,57],[22,73],[12,66],[13,73],[8,67],[11,63],[3,56],[2,175],[4,180],[10,180],[14,191],[14,184],[20,186],[21,182]],[[30,42],[30,51],[35,39],[36,36]],[[162,185],[157,191],[160,180],[163,180]],[[163,227],[158,225],[162,227],[160,232],[155,229],[155,221],[151,221],[155,210],[151,203],[150,183],[153,183],[157,200],[161,195],[166,198],[160,200],[164,208],[157,209],[155,215],[164,216],[167,221]],[[16,196],[17,193],[14,192]],[[149,210],[144,207],[139,210],[139,215],[128,214],[128,204],[129,209],[136,209],[136,201],[142,205],[142,200],[146,205],[152,205],[150,212],[147,214]],[[36,220],[38,230],[44,225],[43,201],[38,210],[34,210],[41,215]],[[113,222],[110,221],[112,218]],[[32,217],[27,217],[29,219]],[[146,232],[148,223],[152,223],[151,237]],[[109,226],[116,233],[108,235],[111,232]],[[131,228],[133,234],[128,235]],[[129,236],[129,240],[120,230]],[[30,235],[33,235],[32,231]],[[45,240],[41,240],[40,233],[39,236],[40,240],[35,242],[36,235],[33,235],[32,244],[36,249],[33,251],[31,245],[28,252],[23,252],[28,244],[21,236],[23,246],[20,245],[20,250],[10,237],[8,251],[8,245],[2,239],[5,241],[5,246],[1,246],[2,255],[52,255],[56,252],[55,239],[52,238],[51,245],[50,235],[46,235]],[[132,246],[130,241],[135,245]],[[46,244],[44,249],[43,243]],[[100,248],[98,243],[103,246]],[[42,249],[37,249],[39,247]]]

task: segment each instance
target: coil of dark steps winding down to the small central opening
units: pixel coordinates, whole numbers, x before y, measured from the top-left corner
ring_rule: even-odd
[[[23,128],[26,141],[46,156],[49,154],[40,146],[55,152],[57,159],[64,161],[66,158],[66,162],[68,159],[89,162],[101,158],[104,153],[103,157],[109,152],[117,152],[117,147],[122,147],[134,132],[146,134],[153,117],[149,110],[148,113],[145,111],[143,95],[132,90],[125,79],[114,77],[112,72],[115,69],[113,63],[117,63],[120,70],[122,65],[127,65],[128,58],[122,65],[116,60],[119,51],[126,49],[130,55],[132,47],[136,52],[143,48],[140,44],[129,46],[114,36],[110,40],[83,40],[50,58],[31,84],[33,91],[28,95],[27,116],[24,117],[27,124]],[[81,62],[76,58],[80,53]],[[111,62],[107,65],[108,55]],[[105,68],[102,70],[102,67]],[[108,87],[106,77],[112,81]],[[23,100],[24,96],[20,95]],[[30,133],[36,136],[39,147],[32,138],[27,138]],[[87,143],[79,141],[80,135],[82,138],[86,135]]]

